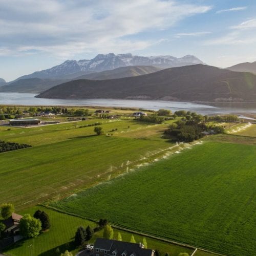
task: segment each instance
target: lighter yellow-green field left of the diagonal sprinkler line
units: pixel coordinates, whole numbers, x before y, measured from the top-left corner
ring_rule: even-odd
[[[74,187],[105,181],[126,166],[131,168],[133,162],[150,159],[152,154],[171,146],[160,138],[158,130],[166,124],[155,128],[130,120],[104,119],[103,130],[114,134],[109,137],[95,136],[94,126],[79,128],[97,121],[29,129],[12,127],[11,131],[1,127],[1,139],[26,142],[32,147],[0,154],[0,203],[12,202],[18,209],[25,208],[66,194]],[[143,139],[138,139],[142,135]]]

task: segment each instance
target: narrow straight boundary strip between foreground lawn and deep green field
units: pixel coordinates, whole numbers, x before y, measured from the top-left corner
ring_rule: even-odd
[[[67,215],[70,215],[70,216],[78,217],[78,218],[81,218],[81,219],[84,219],[84,220],[89,220],[89,221],[96,222],[96,223],[98,222],[98,220],[96,220],[96,219],[87,218],[87,217],[84,217],[84,216],[81,216],[81,215],[78,215],[78,214],[73,214],[72,212],[61,210],[61,209],[55,208],[53,206],[50,206],[48,204],[38,204],[38,205],[43,206],[45,208],[52,209],[52,210],[56,210],[58,212],[61,212],[62,214],[67,214]],[[159,241],[162,241],[162,242],[167,242],[167,243],[170,243],[170,244],[183,246],[183,247],[186,247],[186,248],[189,248],[189,249],[194,249],[193,253],[195,253],[199,249],[201,251],[209,252],[209,253],[216,254],[216,255],[219,255],[219,256],[226,256],[225,254],[210,251],[210,250],[207,250],[207,249],[202,249],[202,248],[199,248],[199,247],[196,247],[196,246],[193,246],[193,245],[189,245],[189,244],[185,244],[185,243],[181,243],[181,242],[176,242],[176,241],[165,239],[165,238],[156,237],[152,234],[132,230],[132,229],[129,229],[129,228],[125,228],[125,227],[116,225],[116,224],[111,224],[111,226],[116,228],[116,229],[119,229],[119,230],[124,230],[124,231],[130,232],[130,233],[139,234],[141,236],[148,237],[148,238],[153,238],[153,239],[156,239],[156,240],[159,240]],[[190,256],[194,255],[193,253]]]

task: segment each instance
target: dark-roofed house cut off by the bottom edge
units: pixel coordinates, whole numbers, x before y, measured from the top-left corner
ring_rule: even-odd
[[[155,251],[145,249],[139,243],[97,238],[93,248],[94,256],[155,256]]]

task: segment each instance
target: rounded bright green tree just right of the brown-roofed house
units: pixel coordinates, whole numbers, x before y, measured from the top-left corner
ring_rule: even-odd
[[[29,214],[25,214],[19,221],[19,230],[26,238],[37,237],[41,230],[41,222]]]

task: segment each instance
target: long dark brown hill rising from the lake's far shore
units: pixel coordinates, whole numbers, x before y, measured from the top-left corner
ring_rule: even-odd
[[[70,81],[36,97],[256,102],[256,75],[199,64],[136,77]]]

